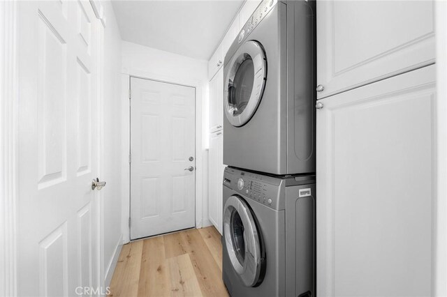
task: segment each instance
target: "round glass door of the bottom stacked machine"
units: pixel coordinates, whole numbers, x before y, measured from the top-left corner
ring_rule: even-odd
[[[247,287],[262,282],[265,261],[251,210],[244,199],[231,196],[223,208],[223,234],[231,264]]]

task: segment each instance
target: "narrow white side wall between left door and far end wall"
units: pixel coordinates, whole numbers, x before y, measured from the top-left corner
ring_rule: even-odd
[[[103,259],[101,269],[105,285],[110,284],[117,257],[122,246],[122,196],[121,196],[121,102],[119,79],[121,73],[121,37],[110,1],[101,1],[104,8],[103,30],[103,96],[101,135],[101,180],[107,185],[101,190],[103,218]]]

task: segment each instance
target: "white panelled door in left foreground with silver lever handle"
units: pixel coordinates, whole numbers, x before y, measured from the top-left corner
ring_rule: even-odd
[[[89,1],[18,5],[18,294],[76,296],[100,283],[99,24]]]

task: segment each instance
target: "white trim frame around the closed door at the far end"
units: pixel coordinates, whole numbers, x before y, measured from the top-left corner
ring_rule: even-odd
[[[131,241],[131,233],[129,227],[129,220],[131,218],[131,193],[130,193],[130,178],[131,171],[129,165],[129,153],[130,153],[130,140],[131,140],[131,126],[130,126],[130,105],[129,105],[129,90],[131,77],[140,79],[149,79],[155,82],[165,82],[168,84],[178,84],[182,86],[189,86],[196,90],[195,96],[195,154],[196,154],[196,182],[195,182],[195,203],[196,203],[196,228],[199,229],[203,226],[205,220],[203,220],[203,169],[206,163],[205,149],[203,148],[203,83],[194,79],[176,79],[173,77],[166,77],[158,75],[156,73],[149,73],[144,70],[135,69],[123,69],[122,71],[122,234],[123,243],[129,243]]]

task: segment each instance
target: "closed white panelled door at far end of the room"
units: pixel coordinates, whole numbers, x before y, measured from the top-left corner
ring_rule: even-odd
[[[196,89],[131,78],[131,239],[196,225]]]

